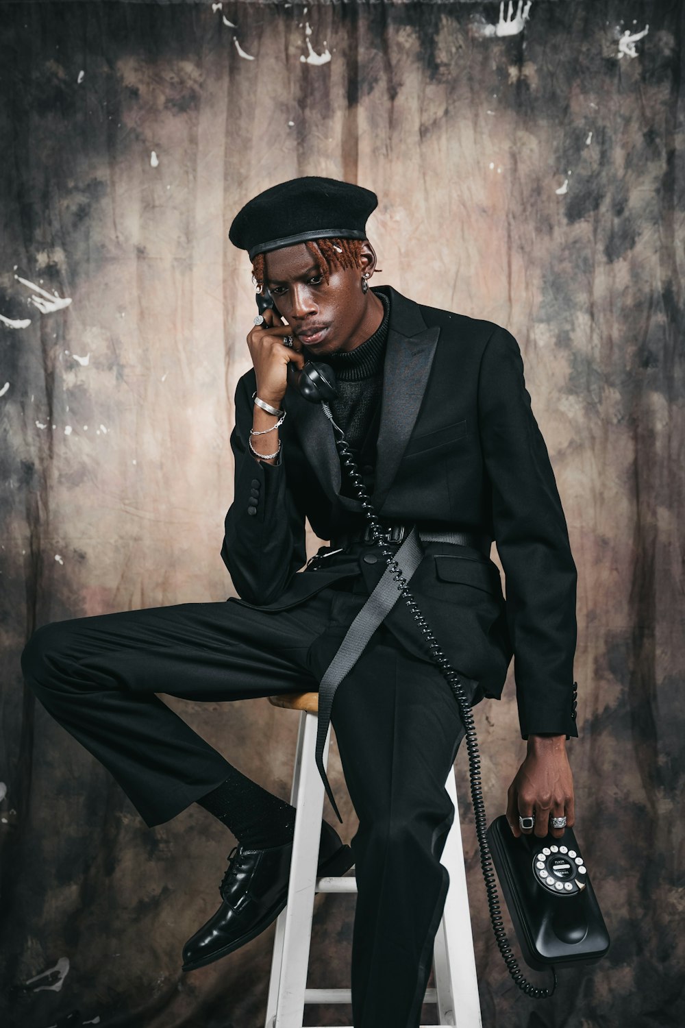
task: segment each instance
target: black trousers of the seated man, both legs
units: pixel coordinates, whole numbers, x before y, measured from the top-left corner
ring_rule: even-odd
[[[155,694],[224,701],[316,690],[366,598],[357,574],[284,611],[229,599],[54,622],[29,640],[22,668],[146,823],[159,824],[219,785],[227,763]],[[461,718],[437,668],[381,625],[341,683],[332,724],[359,819],[354,1025],[418,1028],[449,884],[445,780]]]

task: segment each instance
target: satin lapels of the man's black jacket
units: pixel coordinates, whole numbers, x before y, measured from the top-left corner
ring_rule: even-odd
[[[391,286],[378,286],[374,291],[385,293],[390,300],[375,487],[372,493],[374,507],[380,513],[419,414],[440,328],[426,327],[418,303],[403,296]],[[290,386],[287,402],[300,445],[327,495],[349,510],[358,511],[358,501],[339,494],[342,480],[335,433],[328,417],[319,409],[319,404],[305,400]]]

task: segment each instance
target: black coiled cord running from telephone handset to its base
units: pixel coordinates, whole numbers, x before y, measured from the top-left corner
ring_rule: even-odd
[[[495,934],[495,940],[499,948],[499,952],[502,954],[502,959],[506,964],[506,968],[511,976],[516,985],[525,992],[526,995],[532,996],[534,999],[547,999],[549,996],[554,995],[555,989],[557,988],[557,972],[554,966],[550,966],[553,976],[553,986],[550,989],[539,988],[538,986],[532,985],[528,982],[521,970],[521,967],[513,956],[513,952],[509,945],[509,941],[504,929],[504,922],[502,921],[502,913],[499,904],[499,895],[497,893],[497,879],[495,876],[495,871],[492,864],[492,855],[490,853],[490,846],[488,844],[488,837],[486,835],[488,821],[485,812],[485,803],[483,800],[483,788],[481,781],[481,755],[479,751],[478,737],[475,734],[475,724],[473,722],[473,713],[471,711],[470,705],[464,693],[463,686],[459,681],[459,676],[453,667],[451,667],[450,662],[443,653],[441,647],[435,639],[435,636],[431,632],[425,618],[421,614],[421,611],[417,607],[416,600],[414,599],[412,593],[410,592],[407,579],[402,574],[397,561],[393,557],[392,550],[385,549],[383,543],[381,542],[381,536],[383,528],[378,519],[378,516],[371,504],[371,499],[367,492],[364,481],[356,469],[356,463],[349,448],[349,444],[345,439],[345,434],[339,425],[336,425],[331,413],[331,408],[325,401],[321,403],[324,412],[326,416],[331,421],[334,430],[340,433],[340,438],[336,438],[335,443],[340,454],[341,462],[347,474],[352,482],[352,486],[356,492],[356,499],[361,502],[361,508],[369,523],[372,526],[372,533],[374,542],[378,543],[381,553],[385,557],[388,570],[392,573],[393,580],[398,583],[397,589],[399,590],[399,595],[405,599],[407,605],[412,612],[412,616],[419,626],[423,636],[426,639],[428,648],[430,650],[430,658],[434,664],[437,665],[444,677],[454,693],[454,697],[459,705],[459,710],[461,712],[461,720],[465,729],[465,739],[466,739],[466,749],[468,752],[468,768],[469,768],[469,779],[470,779],[470,790],[471,790],[471,803],[473,805],[473,814],[475,817],[475,834],[478,837],[479,848],[481,851],[481,868],[483,870],[483,878],[485,880],[485,887],[488,896],[488,908],[490,911],[490,920],[492,922],[492,929]]]

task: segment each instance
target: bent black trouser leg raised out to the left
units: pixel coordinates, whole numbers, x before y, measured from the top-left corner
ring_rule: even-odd
[[[316,689],[307,653],[329,605],[317,593],[277,614],[227,600],[52,622],[34,632],[22,670],[145,822],[159,824],[221,784],[230,765],[156,693],[224,701]]]

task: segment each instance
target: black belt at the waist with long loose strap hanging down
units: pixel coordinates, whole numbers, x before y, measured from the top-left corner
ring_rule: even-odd
[[[392,530],[392,527],[393,526],[390,526],[388,528],[388,533]],[[403,529],[404,538],[406,526],[399,525],[398,527]],[[412,526],[410,526],[410,529],[411,527]],[[354,533],[350,534],[350,536],[354,535]],[[348,536],[347,542],[359,542],[364,538],[363,531],[358,531],[356,535],[359,537],[357,540]],[[426,536],[428,537],[427,539]],[[464,531],[427,530],[424,534],[418,525],[414,525],[413,530],[407,531],[407,538],[404,539],[404,542],[396,551],[393,559],[396,560],[404,578],[407,582],[409,582],[412,575],[421,563],[424,555],[424,551],[419,540],[426,542],[458,543],[461,546],[478,546],[479,549],[481,549],[482,547],[475,541],[484,541],[486,539],[487,537],[478,536],[474,533]],[[370,541],[371,540],[367,540],[367,542]],[[333,543],[333,540],[331,542]],[[338,537],[336,542],[340,542],[340,537]],[[388,542],[392,542],[392,540],[388,540]],[[491,541],[487,540],[487,543],[488,549],[484,552],[486,552],[486,555],[489,555]],[[333,698],[342,680],[346,674],[348,674],[364,653],[364,650],[375,630],[399,598],[399,589],[397,588],[397,582],[395,581],[394,574],[395,573],[391,572],[389,567],[385,567],[384,573],[379,579],[374,591],[347,629],[345,637],[340,644],[335,657],[324,672],[324,676],[318,687],[318,721],[316,725],[316,746],[314,750],[314,760],[316,762],[318,773],[324,781],[326,793],[340,821],[342,821],[342,817],[340,816],[340,811],[336,806],[333,791],[324,768],[324,744],[329,731]]]

